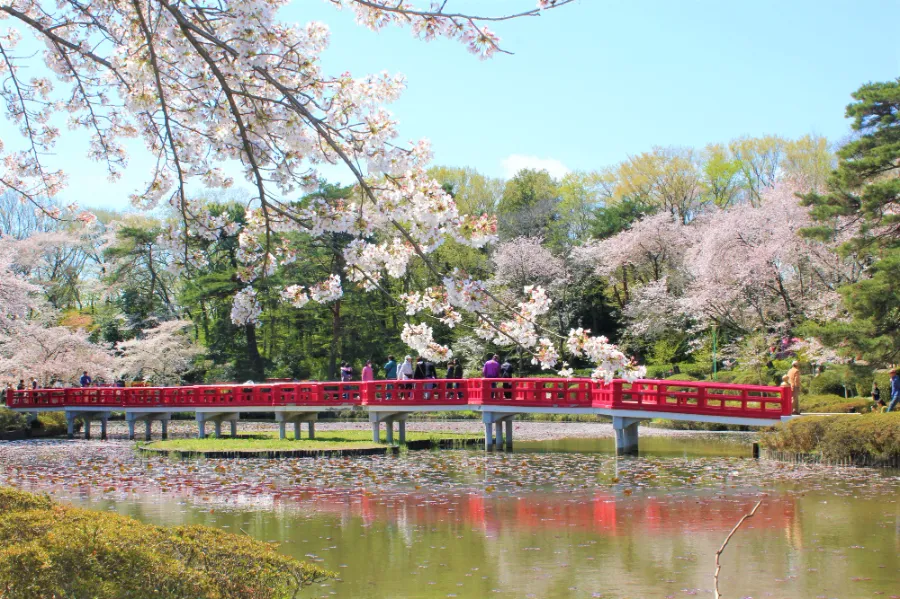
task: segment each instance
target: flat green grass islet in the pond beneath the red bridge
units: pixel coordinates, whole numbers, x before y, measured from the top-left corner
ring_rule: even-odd
[[[253,434],[239,434],[237,437],[220,437],[218,439],[171,439],[156,441],[147,447],[168,451],[201,452],[201,451],[315,451],[315,450],[344,450],[344,449],[372,449],[383,445],[372,442],[371,431],[316,431],[315,439],[306,439],[301,435],[299,440],[294,439],[293,431],[288,433],[286,439],[279,439],[278,433],[263,432]],[[468,440],[473,435],[461,433],[419,433],[407,432],[406,440],[410,441],[440,441],[440,440]],[[397,439],[396,434],[394,439]],[[387,442],[386,433],[381,431],[381,440]]]

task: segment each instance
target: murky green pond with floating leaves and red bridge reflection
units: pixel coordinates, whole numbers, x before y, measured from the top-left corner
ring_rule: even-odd
[[[746,438],[514,453],[172,461],[125,443],[0,444],[0,484],[275,541],[338,572],[308,597],[900,596],[900,474],[746,457]]]

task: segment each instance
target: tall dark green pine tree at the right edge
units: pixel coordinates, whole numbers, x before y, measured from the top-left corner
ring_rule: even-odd
[[[837,152],[827,192],[804,197],[822,224],[813,237],[852,234],[844,251],[869,264],[868,277],[840,289],[850,319],[808,324],[850,357],[897,361],[900,348],[900,79],[867,83],[847,106],[856,137]]]

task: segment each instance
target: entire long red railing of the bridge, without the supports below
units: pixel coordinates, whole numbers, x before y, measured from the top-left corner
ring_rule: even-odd
[[[410,381],[297,382],[187,387],[88,387],[10,390],[14,409],[244,408],[289,406],[488,406],[606,408],[679,412],[704,416],[773,419],[791,413],[789,387],[714,382],[638,380],[594,383],[589,379],[508,378]]]

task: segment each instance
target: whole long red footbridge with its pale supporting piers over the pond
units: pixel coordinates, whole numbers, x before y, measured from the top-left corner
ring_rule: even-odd
[[[593,414],[611,416],[617,449],[633,452],[641,420],[665,417],[769,426],[790,417],[791,390],[687,381],[617,380],[607,384],[589,379],[478,378],[10,390],[6,404],[32,416],[41,411],[64,411],[70,437],[76,417],[84,420],[85,438],[90,438],[92,420],[100,421],[101,438],[105,438],[110,414],[124,412],[132,439],[139,421],[146,423],[149,439],[153,420],[161,421],[165,438],[168,421],[176,412],[196,415],[201,438],[206,436],[207,422],[214,424],[216,436],[221,434],[222,422],[229,422],[234,435],[240,414],[254,412],[274,412],[282,438],[288,423],[294,424],[295,438],[299,438],[300,424],[307,422],[312,438],[318,413],[361,409],[369,412],[373,439],[379,440],[384,422],[389,443],[393,442],[394,422],[400,442],[405,441],[406,418],[412,412],[474,410],[482,413],[487,448],[504,445],[504,428],[505,445],[512,447],[516,414]]]

